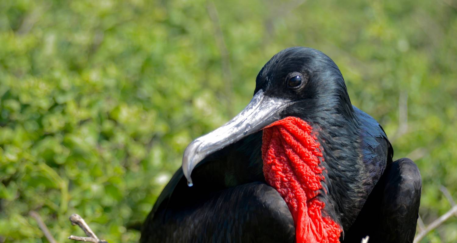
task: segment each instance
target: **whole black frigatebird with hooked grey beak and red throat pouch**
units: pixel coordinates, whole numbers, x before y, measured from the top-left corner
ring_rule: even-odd
[[[421,178],[351,105],[339,68],[287,48],[237,116],[186,148],[141,242],[412,242]]]

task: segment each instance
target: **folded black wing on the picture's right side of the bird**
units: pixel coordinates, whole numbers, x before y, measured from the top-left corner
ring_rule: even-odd
[[[420,204],[420,172],[414,162],[403,158],[387,165],[345,242],[413,242]]]

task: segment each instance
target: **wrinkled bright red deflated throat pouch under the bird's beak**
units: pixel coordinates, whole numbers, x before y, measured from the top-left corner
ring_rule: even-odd
[[[324,160],[313,128],[297,117],[286,117],[263,130],[263,174],[286,201],[295,223],[297,243],[339,243],[342,227],[322,216]]]

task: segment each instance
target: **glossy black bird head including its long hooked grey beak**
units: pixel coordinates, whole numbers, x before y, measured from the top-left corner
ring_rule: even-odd
[[[287,48],[268,61],[255,81],[254,97],[233,119],[192,141],[182,169],[192,170],[208,155],[285,117],[325,124],[330,114],[351,120],[353,109],[340,70],[328,56],[306,47]]]

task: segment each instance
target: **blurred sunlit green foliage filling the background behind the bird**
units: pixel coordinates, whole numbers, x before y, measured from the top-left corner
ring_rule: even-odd
[[[319,49],[422,179],[457,199],[456,0],[0,0],[0,242],[135,242],[186,145],[238,113],[291,46]],[[399,122],[399,120],[401,122]],[[422,242],[457,242],[451,218]]]

